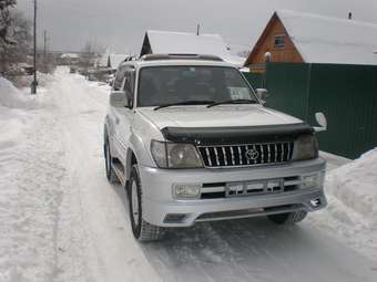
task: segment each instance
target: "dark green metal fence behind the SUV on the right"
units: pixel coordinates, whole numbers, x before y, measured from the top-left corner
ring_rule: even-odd
[[[269,63],[266,88],[269,107],[312,125],[326,115],[320,149],[356,158],[377,147],[377,66]]]

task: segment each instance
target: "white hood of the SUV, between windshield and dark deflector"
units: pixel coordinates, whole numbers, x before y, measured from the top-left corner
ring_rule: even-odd
[[[300,119],[262,105],[175,106],[154,111],[140,107],[137,113],[145,116],[160,129],[172,127],[225,127],[264,126],[302,123]]]

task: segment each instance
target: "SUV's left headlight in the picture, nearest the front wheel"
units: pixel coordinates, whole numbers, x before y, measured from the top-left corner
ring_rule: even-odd
[[[162,168],[203,167],[194,145],[152,140],[151,153],[154,161]]]

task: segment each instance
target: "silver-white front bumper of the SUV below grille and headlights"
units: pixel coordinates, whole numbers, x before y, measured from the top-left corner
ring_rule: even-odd
[[[187,227],[200,221],[294,210],[315,211],[327,205],[323,190],[325,168],[326,163],[322,158],[276,166],[230,169],[159,169],[141,166],[139,169],[143,189],[143,218],[155,226]],[[308,175],[318,175],[318,185],[302,188],[299,181]],[[221,186],[266,179],[296,179],[296,189],[214,199],[177,199],[173,194],[175,184]],[[203,187],[202,190],[204,189]]]

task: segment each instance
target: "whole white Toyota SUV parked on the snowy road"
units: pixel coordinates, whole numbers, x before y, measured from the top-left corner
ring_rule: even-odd
[[[257,95],[258,94],[258,95]],[[298,222],[326,206],[322,127],[263,106],[208,55],[144,55],[116,72],[104,125],[108,179],[126,189],[136,239],[166,228],[267,216]]]

